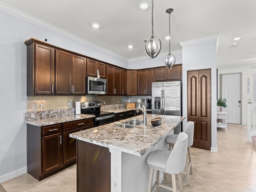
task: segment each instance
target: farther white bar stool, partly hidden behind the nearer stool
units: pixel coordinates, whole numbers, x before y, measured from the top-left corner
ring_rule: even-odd
[[[190,185],[190,176],[189,176],[189,171],[191,174],[193,174],[193,170],[192,170],[192,162],[191,162],[191,156],[190,156],[190,149],[189,147],[191,147],[193,145],[193,137],[194,137],[194,122],[189,121],[187,123],[187,126],[184,130],[184,133],[186,133],[188,135],[188,147],[187,147],[187,158],[186,158],[186,174],[187,174],[187,180],[188,180],[188,185]],[[172,151],[173,146],[175,146],[175,142],[177,140],[178,135],[177,134],[173,134],[168,136],[168,138],[166,139],[167,144],[169,145],[168,150]],[[166,177],[166,175],[164,175]]]

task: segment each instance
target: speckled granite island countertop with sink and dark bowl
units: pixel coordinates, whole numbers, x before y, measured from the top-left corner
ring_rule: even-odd
[[[162,124],[153,127],[150,120],[156,117],[162,117]],[[147,125],[145,126],[142,124],[134,128],[116,127],[116,125],[130,120],[143,121],[143,115],[140,115],[76,132],[69,136],[136,156],[143,156],[150,148],[162,140],[164,136],[168,135],[184,118],[180,116],[147,114]]]

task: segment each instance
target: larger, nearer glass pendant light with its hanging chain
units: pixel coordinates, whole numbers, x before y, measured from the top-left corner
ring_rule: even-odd
[[[154,28],[153,9],[154,9],[154,2],[152,0],[152,34],[145,44],[145,54],[148,58],[151,58],[151,59],[158,56],[161,50],[161,41],[157,36],[154,36],[154,31],[153,31],[153,28]]]

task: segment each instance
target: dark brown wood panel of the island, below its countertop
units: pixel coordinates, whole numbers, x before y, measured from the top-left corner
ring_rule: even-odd
[[[111,191],[111,154],[106,147],[77,140],[77,192]]]

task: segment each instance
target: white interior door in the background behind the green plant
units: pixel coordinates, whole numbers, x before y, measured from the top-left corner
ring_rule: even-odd
[[[241,83],[240,73],[222,75],[222,99],[227,99],[227,122],[241,124]]]

